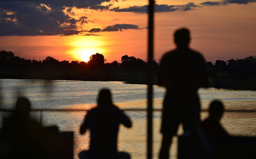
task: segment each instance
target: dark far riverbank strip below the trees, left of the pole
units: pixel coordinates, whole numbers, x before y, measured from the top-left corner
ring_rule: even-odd
[[[144,69],[1,69],[0,78],[125,81],[130,84],[147,84],[147,73]]]

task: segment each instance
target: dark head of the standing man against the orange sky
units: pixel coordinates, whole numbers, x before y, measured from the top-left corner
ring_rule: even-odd
[[[190,42],[189,30],[186,28],[181,28],[174,33],[175,44],[179,47],[188,46]]]

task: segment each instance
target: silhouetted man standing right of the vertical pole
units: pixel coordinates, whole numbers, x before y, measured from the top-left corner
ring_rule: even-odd
[[[171,141],[180,122],[184,131],[200,126],[197,89],[209,86],[202,55],[189,48],[189,30],[178,29],[174,41],[177,48],[163,56],[158,75],[158,84],[167,89],[163,102],[160,159],[169,158]]]

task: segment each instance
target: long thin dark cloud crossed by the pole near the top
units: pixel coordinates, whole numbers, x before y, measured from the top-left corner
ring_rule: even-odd
[[[199,7],[195,5],[195,3],[190,2],[185,5],[155,5],[155,12],[161,13],[161,12],[174,12],[174,11],[187,11],[191,10],[195,7]],[[134,12],[134,13],[147,13],[148,12],[148,5],[144,6],[132,6],[128,8],[121,8],[116,7],[110,9],[115,12]]]

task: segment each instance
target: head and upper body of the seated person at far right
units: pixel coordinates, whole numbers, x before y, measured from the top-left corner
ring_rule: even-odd
[[[201,127],[206,132],[209,141],[212,143],[216,140],[226,139],[229,137],[228,133],[220,124],[220,120],[224,112],[223,104],[218,100],[212,101],[208,111],[209,116],[201,123]]]

